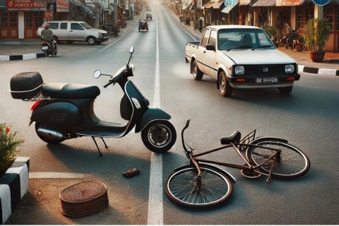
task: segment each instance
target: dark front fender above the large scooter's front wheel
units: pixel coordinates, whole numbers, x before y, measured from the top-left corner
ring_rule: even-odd
[[[140,132],[149,124],[151,121],[155,120],[169,120],[171,116],[166,112],[162,111],[162,109],[158,109],[156,107],[148,108],[139,121],[136,122],[136,133]]]

